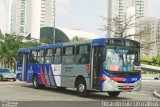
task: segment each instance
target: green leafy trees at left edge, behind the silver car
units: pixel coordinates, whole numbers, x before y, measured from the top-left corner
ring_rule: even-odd
[[[37,41],[25,41],[23,36],[5,34],[1,36],[0,41],[0,60],[2,66],[15,69],[16,59],[19,48],[27,48],[32,46],[40,45]]]

